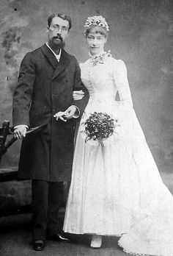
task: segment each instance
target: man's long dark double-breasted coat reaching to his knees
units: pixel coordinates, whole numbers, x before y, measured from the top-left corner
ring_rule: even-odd
[[[36,127],[48,124],[48,127],[23,139],[20,178],[70,181],[74,118],[67,122],[56,121],[54,114],[66,110],[71,104],[83,112],[87,96],[73,102],[73,90],[81,86],[78,62],[63,49],[59,63],[46,45],[23,58],[13,96],[13,125]]]

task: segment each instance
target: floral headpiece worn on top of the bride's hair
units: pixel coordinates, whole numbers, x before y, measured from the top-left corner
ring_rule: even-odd
[[[108,29],[108,23],[106,22],[106,19],[103,18],[103,16],[92,16],[88,17],[87,21],[84,24],[84,27],[89,28],[89,26],[103,26],[107,31]]]

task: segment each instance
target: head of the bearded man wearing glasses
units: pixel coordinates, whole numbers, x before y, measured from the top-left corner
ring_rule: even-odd
[[[48,27],[48,41],[52,46],[61,48],[65,46],[68,35],[69,22],[59,17],[54,17]]]

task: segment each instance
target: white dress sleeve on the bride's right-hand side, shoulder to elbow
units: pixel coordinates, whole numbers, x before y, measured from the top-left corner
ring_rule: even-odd
[[[128,83],[128,72],[122,60],[116,60],[114,65],[114,82],[117,86],[120,101],[128,107],[133,107]]]

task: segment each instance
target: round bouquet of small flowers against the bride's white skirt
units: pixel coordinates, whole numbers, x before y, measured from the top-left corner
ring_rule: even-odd
[[[85,142],[97,141],[99,145],[104,146],[103,141],[111,137],[117,125],[117,120],[106,113],[92,113],[84,122]]]

